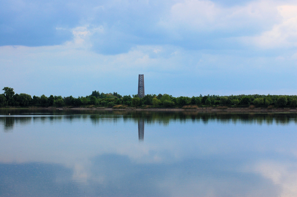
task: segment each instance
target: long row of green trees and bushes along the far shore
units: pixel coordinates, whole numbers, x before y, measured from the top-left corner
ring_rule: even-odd
[[[113,107],[117,106],[143,106],[150,105],[152,107],[182,107],[184,105],[241,105],[241,106],[291,106],[296,107],[296,95],[205,95],[192,97],[173,97],[168,94],[148,94],[143,98],[138,95],[124,95],[121,96],[117,92],[103,93],[94,90],[91,95],[62,97],[45,95],[33,96],[25,93],[15,94],[13,88],[4,87],[3,94],[0,94],[0,107],[6,106],[41,106],[41,107],[62,107],[62,106],[82,106],[94,105],[98,107]]]

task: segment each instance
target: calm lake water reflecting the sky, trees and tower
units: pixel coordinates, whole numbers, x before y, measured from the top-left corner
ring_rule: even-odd
[[[296,142],[296,114],[0,110],[0,196],[297,196]]]

